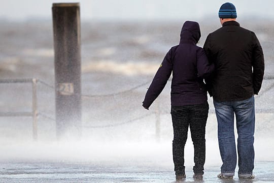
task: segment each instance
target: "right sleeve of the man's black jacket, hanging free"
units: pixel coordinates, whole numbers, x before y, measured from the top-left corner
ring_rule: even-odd
[[[252,67],[253,67],[253,88],[254,94],[258,95],[262,86],[262,80],[264,75],[264,57],[263,50],[255,33],[252,32]]]

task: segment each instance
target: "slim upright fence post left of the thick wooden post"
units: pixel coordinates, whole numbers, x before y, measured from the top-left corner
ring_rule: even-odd
[[[32,79],[32,138],[37,140],[37,79]]]

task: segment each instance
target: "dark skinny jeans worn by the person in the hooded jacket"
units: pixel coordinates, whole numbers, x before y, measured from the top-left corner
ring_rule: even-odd
[[[207,124],[209,104],[172,106],[173,122],[173,161],[176,175],[185,174],[184,149],[187,140],[188,127],[194,145],[195,174],[203,174],[205,161],[205,125]]]

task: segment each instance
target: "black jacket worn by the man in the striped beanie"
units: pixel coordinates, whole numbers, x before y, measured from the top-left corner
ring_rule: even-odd
[[[245,100],[258,94],[264,74],[262,47],[256,35],[236,21],[209,34],[203,46],[215,72],[206,79],[214,100]]]

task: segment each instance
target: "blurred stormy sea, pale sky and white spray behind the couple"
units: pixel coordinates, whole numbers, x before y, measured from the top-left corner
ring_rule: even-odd
[[[202,47],[219,28],[225,1],[82,0],[82,138],[56,141],[52,3],[2,1],[0,78],[37,78],[38,140],[31,117],[1,117],[0,161],[90,161],[157,165],[173,169],[170,81],[150,110],[142,108],[147,87],[186,20],[198,21]],[[274,161],[274,2],[230,1],[241,26],[255,32],[265,57],[265,80],[256,104],[256,161]],[[31,83],[1,83],[0,112],[32,110]],[[209,98],[207,165],[220,165],[217,121]],[[192,167],[189,136],[185,156]],[[151,164],[150,164],[151,163]],[[273,165],[273,164],[271,164]],[[8,164],[8,166],[10,166]]]

